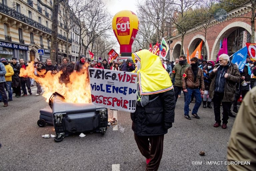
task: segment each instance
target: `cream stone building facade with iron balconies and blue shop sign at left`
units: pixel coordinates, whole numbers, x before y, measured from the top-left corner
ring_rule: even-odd
[[[52,6],[52,0],[43,1]],[[64,4],[60,3],[58,14],[58,46],[56,62],[63,57],[77,60],[79,52],[79,30],[76,25],[70,29],[67,43]],[[2,0],[0,2],[0,56],[33,61],[45,61],[50,57],[52,12],[37,0]],[[65,47],[68,46],[69,52]],[[44,54],[40,55],[40,49]],[[81,52],[84,51],[84,47]]]

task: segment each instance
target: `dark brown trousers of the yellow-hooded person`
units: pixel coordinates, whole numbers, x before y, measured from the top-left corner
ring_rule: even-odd
[[[134,133],[134,139],[141,154],[151,158],[146,171],[157,171],[163,155],[164,135],[138,136]]]

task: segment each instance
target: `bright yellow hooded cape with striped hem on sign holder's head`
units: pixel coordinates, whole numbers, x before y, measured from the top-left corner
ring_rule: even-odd
[[[140,61],[141,69],[133,71],[138,73],[138,84],[141,95],[150,95],[165,92],[173,88],[171,78],[164,69],[159,56],[144,49],[132,53],[132,60]]]

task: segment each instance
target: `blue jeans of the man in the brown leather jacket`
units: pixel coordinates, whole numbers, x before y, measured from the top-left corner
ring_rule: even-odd
[[[189,114],[189,104],[190,104],[190,99],[191,99],[192,93],[194,94],[194,97],[196,99],[195,106],[192,110],[192,114],[195,114],[198,112],[198,109],[202,102],[201,93],[200,93],[199,88],[196,88],[196,89],[187,88],[187,90],[188,90],[188,93],[186,93],[186,101],[185,101],[185,105],[184,105],[184,115]]]

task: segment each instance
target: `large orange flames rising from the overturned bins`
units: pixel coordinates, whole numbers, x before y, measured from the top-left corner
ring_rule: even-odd
[[[86,63],[86,68],[88,64]],[[91,89],[90,89],[90,79],[88,75],[88,69],[83,69],[81,72],[73,72],[70,74],[70,82],[65,84],[59,81],[62,71],[51,74],[42,69],[37,71],[38,76],[34,74],[33,63],[29,63],[26,67],[20,69],[20,77],[30,77],[36,82],[40,83],[44,89],[43,96],[46,98],[46,101],[49,101],[49,98],[54,92],[58,92],[65,97],[65,102],[70,103],[91,103]]]

